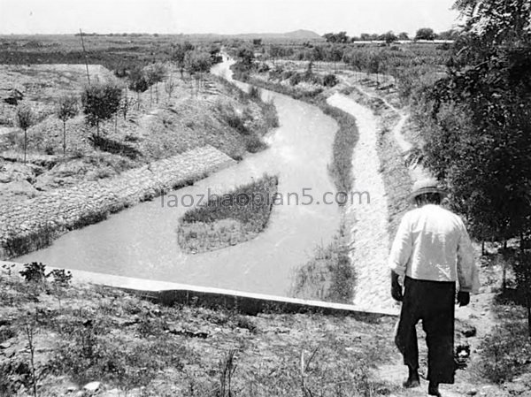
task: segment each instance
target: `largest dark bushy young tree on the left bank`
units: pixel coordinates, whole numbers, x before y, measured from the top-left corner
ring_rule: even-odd
[[[81,95],[85,119],[90,126],[96,126],[96,138],[99,138],[99,125],[112,118],[119,110],[121,88],[113,83],[98,83],[85,88]]]

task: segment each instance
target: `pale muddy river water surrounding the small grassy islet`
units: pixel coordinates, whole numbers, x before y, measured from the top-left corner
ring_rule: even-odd
[[[226,74],[228,63],[213,72]],[[228,75],[227,75],[228,76]],[[103,222],[66,233],[49,248],[16,258],[55,267],[111,273],[143,279],[229,288],[245,292],[288,295],[295,269],[319,244],[327,244],[340,223],[335,203],[325,204],[326,192],[335,192],[327,166],[337,125],[319,109],[264,91],[274,101],[281,126],[267,141],[265,151],[152,202],[114,214]],[[222,193],[259,178],[264,172],[279,176],[283,204],[273,207],[264,233],[254,240],[204,254],[186,255],[177,244],[179,218],[190,197]],[[305,189],[305,190],[304,190]],[[290,201],[287,202],[288,195]],[[305,194],[305,196],[303,196]],[[296,205],[296,197],[299,205]],[[310,205],[302,205],[310,201]],[[169,200],[177,207],[168,207]],[[332,201],[327,196],[327,201]],[[319,203],[318,203],[319,202]]]

